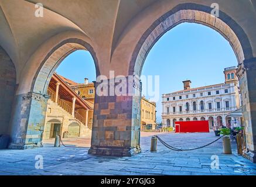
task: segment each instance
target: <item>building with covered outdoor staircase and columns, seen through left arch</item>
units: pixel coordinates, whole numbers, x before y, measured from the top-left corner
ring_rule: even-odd
[[[43,140],[61,137],[91,137],[90,117],[93,103],[81,98],[72,88],[73,82],[61,75],[53,74],[47,94],[45,129]]]

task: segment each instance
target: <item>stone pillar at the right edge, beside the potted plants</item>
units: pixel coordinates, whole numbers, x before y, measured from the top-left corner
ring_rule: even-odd
[[[238,66],[241,108],[247,150],[244,157],[256,162],[256,58],[244,60]]]

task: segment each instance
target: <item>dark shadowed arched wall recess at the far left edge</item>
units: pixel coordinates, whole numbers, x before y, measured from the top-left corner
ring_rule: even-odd
[[[10,133],[13,99],[16,90],[16,69],[11,58],[0,46],[0,134]]]

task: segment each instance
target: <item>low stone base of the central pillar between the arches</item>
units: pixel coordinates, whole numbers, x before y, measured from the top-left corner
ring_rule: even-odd
[[[132,155],[141,153],[141,148],[123,148],[123,147],[95,147],[91,146],[88,154],[107,155],[117,157],[131,157]]]

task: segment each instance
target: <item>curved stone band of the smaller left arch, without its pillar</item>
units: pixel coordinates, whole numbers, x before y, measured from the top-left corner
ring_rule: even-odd
[[[35,74],[35,77],[33,78],[31,92],[46,94],[47,87],[54,71],[57,69],[60,63],[62,63],[64,58],[76,50],[88,50],[90,52],[94,60],[96,76],[100,75],[98,60],[93,47],[81,39],[66,39],[53,47],[53,49],[50,50],[50,52],[45,56]]]

